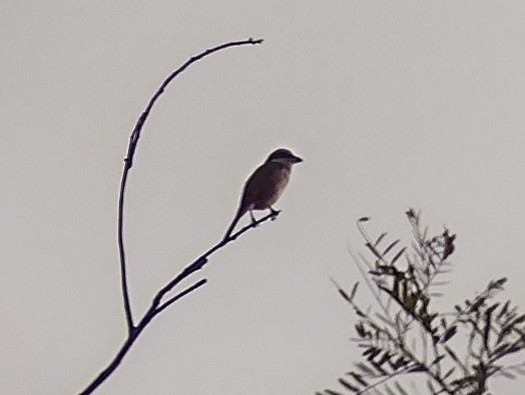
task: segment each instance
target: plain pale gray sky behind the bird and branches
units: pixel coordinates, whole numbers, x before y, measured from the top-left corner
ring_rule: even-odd
[[[458,233],[443,304],[508,276],[523,306],[522,1],[12,1],[0,5],[0,392],[73,394],[125,335],[122,159],[161,81],[127,195],[135,316],[217,241],[276,147],[305,159],[283,212],[222,250],[97,394],[309,394],[357,360],[355,220]],[[367,301],[365,293],[363,301]],[[524,379],[498,381],[517,393]]]

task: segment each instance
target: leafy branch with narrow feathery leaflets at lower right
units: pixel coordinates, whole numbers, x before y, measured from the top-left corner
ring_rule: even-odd
[[[452,312],[433,308],[442,293],[436,288],[449,273],[456,235],[444,228],[429,236],[421,213],[406,212],[413,241],[387,243],[387,233],[372,239],[363,217],[357,226],[372,258],[354,257],[377,306],[362,308],[356,301],[359,283],[347,293],[335,281],[339,294],[357,316],[353,339],[361,348],[361,360],[338,379],[353,394],[408,394],[399,381],[423,375],[431,394],[482,395],[490,378],[515,378],[525,374],[525,363],[509,364],[508,358],[525,350],[525,314],[511,301],[498,301],[506,278],[490,281],[472,299]],[[466,340],[466,341],[465,341]],[[384,391],[384,392],[382,392]],[[317,394],[340,395],[326,389]]]

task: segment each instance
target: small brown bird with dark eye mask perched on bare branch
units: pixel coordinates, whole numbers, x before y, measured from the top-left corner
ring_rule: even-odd
[[[241,202],[232,223],[226,231],[224,238],[227,239],[241,217],[250,212],[252,221],[255,221],[252,210],[269,209],[276,213],[272,205],[281,196],[290,179],[292,165],[302,162],[298,156],[290,150],[279,148],[268,156],[266,161],[259,166],[244,184]]]

